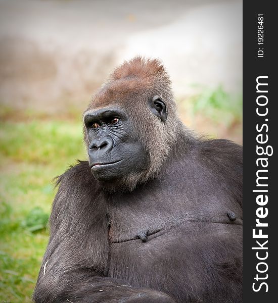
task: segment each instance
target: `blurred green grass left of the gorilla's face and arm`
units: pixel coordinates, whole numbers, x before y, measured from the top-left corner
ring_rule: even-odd
[[[52,180],[86,158],[81,123],[9,120],[0,123],[0,146],[0,300],[30,302],[48,242]]]

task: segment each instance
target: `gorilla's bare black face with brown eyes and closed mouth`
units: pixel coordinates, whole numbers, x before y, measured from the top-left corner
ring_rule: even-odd
[[[84,116],[91,172],[99,181],[110,182],[148,165],[146,148],[134,134],[131,119],[119,108],[89,111]]]

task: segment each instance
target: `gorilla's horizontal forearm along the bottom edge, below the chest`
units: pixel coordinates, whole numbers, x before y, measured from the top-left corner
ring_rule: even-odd
[[[46,277],[45,277],[46,276]],[[67,271],[60,275],[39,278],[33,299],[40,303],[174,303],[165,293],[152,289],[133,288],[123,281]]]

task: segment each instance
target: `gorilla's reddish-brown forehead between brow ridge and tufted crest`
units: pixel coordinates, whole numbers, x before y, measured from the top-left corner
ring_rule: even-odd
[[[89,109],[100,109],[111,105],[128,107],[129,104],[134,105],[134,102],[138,103],[141,100],[146,102],[152,87],[151,78],[128,77],[108,82],[94,95]],[[145,98],[141,97],[143,95]]]

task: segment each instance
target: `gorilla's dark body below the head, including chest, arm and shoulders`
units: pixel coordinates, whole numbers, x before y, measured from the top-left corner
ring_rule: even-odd
[[[241,302],[241,147],[175,151],[129,193],[99,189],[88,162],[59,178],[35,302]]]

